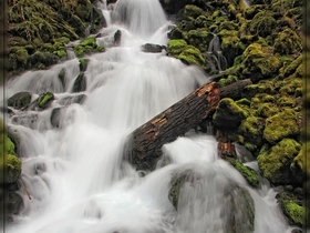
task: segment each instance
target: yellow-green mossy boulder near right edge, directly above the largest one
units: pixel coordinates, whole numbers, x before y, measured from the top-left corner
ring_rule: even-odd
[[[282,112],[266,119],[264,139],[270,144],[276,144],[285,138],[299,134],[297,114],[291,109],[285,109]]]

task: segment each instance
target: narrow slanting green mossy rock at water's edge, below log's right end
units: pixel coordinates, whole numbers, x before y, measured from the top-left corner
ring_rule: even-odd
[[[234,158],[226,158],[226,160],[241,173],[249,185],[256,189],[260,186],[259,176],[254,169],[244,165],[241,162]]]

